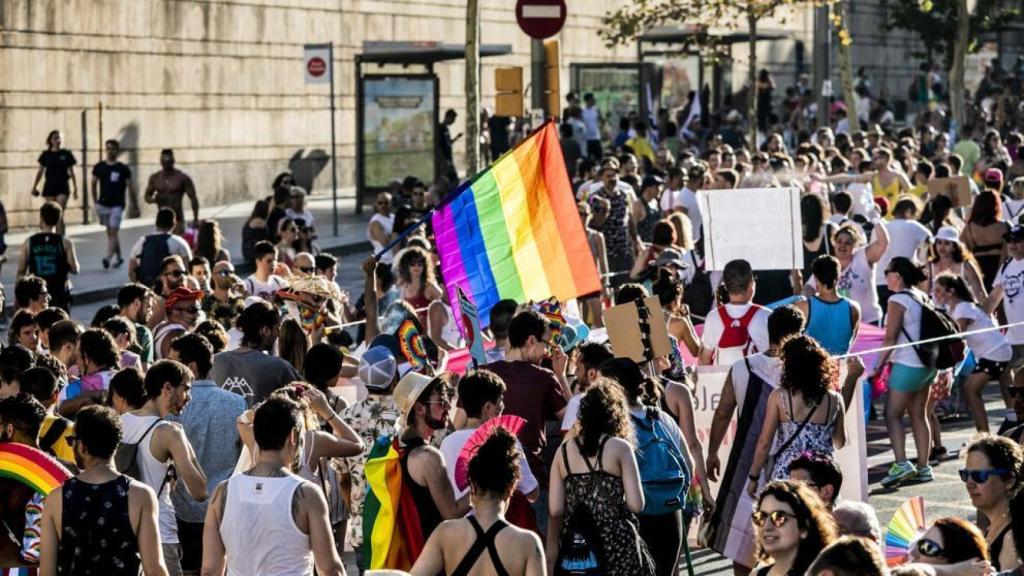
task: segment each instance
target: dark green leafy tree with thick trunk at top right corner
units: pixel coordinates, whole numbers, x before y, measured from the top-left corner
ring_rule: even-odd
[[[970,6],[969,4],[975,4]],[[942,57],[949,71],[949,108],[957,129],[966,117],[965,56],[977,51],[978,36],[999,30],[1021,14],[1017,0],[882,0],[886,30],[914,32],[927,54]],[[955,24],[953,34],[950,23]]]

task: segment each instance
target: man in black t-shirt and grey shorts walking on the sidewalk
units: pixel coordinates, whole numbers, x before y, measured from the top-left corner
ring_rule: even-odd
[[[106,140],[106,160],[92,167],[92,203],[96,205],[99,223],[106,227],[106,257],[103,269],[118,268],[124,263],[121,256],[121,218],[125,210],[125,192],[131,194],[132,203],[138,206],[135,187],[131,182],[131,168],[118,161],[121,145]],[[96,188],[99,188],[97,197]]]

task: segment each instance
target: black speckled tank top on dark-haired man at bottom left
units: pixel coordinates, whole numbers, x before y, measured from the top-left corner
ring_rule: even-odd
[[[126,476],[103,484],[89,484],[77,478],[65,482],[57,574],[136,576],[139,573],[138,540],[128,516],[129,484]]]

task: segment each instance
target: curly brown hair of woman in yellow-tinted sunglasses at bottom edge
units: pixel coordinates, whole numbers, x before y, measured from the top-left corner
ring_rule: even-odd
[[[797,558],[790,569],[790,574],[802,575],[807,572],[818,552],[836,541],[836,521],[821,498],[799,482],[778,480],[765,486],[758,496],[759,510],[768,496],[793,508],[798,528],[807,533],[807,537],[800,540]],[[758,538],[758,559],[764,562],[770,557],[762,548],[760,540]]]

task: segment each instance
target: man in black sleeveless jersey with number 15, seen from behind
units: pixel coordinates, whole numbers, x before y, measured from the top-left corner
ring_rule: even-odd
[[[22,258],[17,277],[33,274],[46,281],[50,305],[71,312],[71,289],[68,276],[78,274],[78,256],[75,245],[57,233],[63,210],[56,202],[47,202],[39,208],[39,230],[22,245]]]

